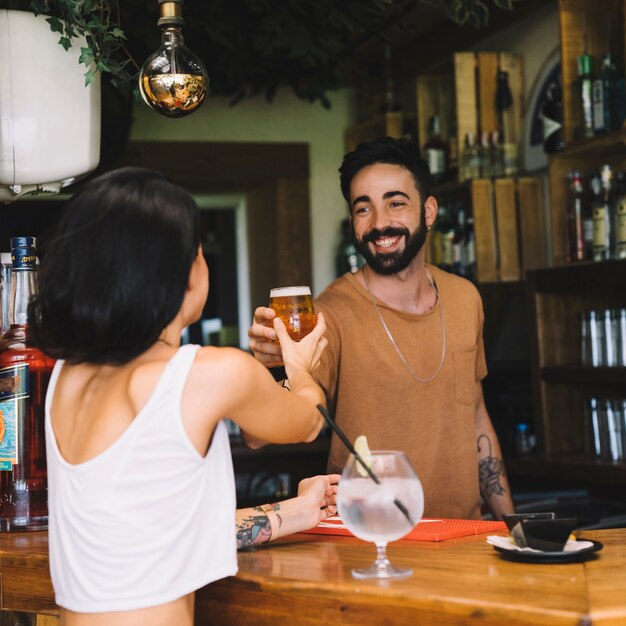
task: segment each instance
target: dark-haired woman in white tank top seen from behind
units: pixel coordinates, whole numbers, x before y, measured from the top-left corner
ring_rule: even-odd
[[[193,592],[237,571],[237,541],[265,541],[283,522],[279,507],[236,522],[222,420],[275,443],[314,439],[324,319],[299,343],[275,323],[287,392],[241,350],[180,347],[208,286],[196,205],[150,170],[88,183],[49,243],[30,319],[58,359],[46,399],[49,545],[69,626],[191,625]],[[324,503],[333,512],[328,477],[302,495],[295,504],[315,511],[307,524]]]

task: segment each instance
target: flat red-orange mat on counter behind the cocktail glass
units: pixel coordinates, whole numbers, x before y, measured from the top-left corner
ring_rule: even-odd
[[[499,530],[506,530],[504,522],[488,522],[474,519],[422,518],[420,523],[402,539],[411,541],[445,541],[446,539],[492,533]],[[316,535],[353,536],[337,516],[329,517],[321,522],[319,526],[304,532]]]

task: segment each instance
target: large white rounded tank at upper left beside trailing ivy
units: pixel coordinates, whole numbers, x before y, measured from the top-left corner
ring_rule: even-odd
[[[100,76],[85,87],[85,39],[68,51],[58,39],[45,16],[0,10],[2,200],[33,186],[58,190],[98,165]]]

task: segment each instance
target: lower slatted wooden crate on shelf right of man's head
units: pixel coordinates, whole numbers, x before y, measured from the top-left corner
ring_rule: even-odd
[[[477,280],[517,281],[526,270],[545,266],[541,181],[476,179],[469,185]]]

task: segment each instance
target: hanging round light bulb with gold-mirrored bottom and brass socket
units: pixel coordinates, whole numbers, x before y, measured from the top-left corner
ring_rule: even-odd
[[[209,84],[204,64],[185,46],[182,5],[183,0],[159,0],[161,47],[139,72],[139,91],[145,103],[167,117],[195,111],[204,102]]]

